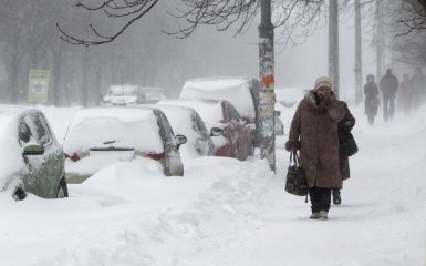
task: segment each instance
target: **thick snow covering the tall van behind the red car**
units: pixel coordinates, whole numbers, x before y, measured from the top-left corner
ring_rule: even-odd
[[[248,78],[194,79],[185,83],[179,98],[227,100],[241,116],[254,117]]]

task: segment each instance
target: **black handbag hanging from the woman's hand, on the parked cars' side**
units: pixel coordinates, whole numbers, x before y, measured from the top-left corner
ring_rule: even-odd
[[[287,172],[285,191],[297,196],[308,195],[306,175],[300,166],[300,160],[297,152],[290,153],[290,165]]]

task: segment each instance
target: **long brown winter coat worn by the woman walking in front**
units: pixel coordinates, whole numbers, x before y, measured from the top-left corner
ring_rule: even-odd
[[[334,95],[316,104],[314,92],[310,91],[299,103],[285,149],[300,149],[309,187],[342,187],[337,122],[343,115],[344,106]]]

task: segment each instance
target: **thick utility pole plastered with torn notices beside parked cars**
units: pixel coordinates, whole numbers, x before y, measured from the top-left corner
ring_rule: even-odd
[[[271,22],[271,0],[261,0],[261,22],[259,25],[259,123],[260,157],[267,158],[276,171],[276,132],[274,132],[274,59],[273,24]]]

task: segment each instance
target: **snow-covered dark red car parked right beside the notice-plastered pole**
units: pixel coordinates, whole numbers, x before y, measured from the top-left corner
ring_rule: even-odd
[[[160,104],[163,101],[159,102]],[[225,100],[176,99],[169,105],[193,108],[214,135],[217,156],[246,160],[253,153],[250,127],[233,105]]]

